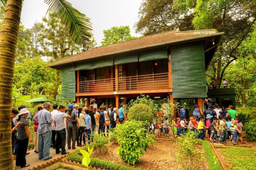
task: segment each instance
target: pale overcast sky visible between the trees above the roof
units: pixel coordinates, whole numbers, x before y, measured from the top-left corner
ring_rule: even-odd
[[[68,0],[73,7],[91,19],[93,35],[97,46],[101,45],[103,30],[114,26],[129,25],[132,36],[135,33],[134,24],[138,22],[138,11],[142,0]],[[48,5],[44,0],[24,0],[21,21],[26,28],[31,28],[35,22],[41,22],[46,16]]]

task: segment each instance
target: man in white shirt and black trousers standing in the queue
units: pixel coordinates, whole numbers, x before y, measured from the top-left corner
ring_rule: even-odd
[[[68,154],[68,152],[65,150],[66,145],[66,129],[67,126],[65,126],[65,118],[71,118],[68,114],[64,113],[65,107],[63,105],[60,105],[59,111],[54,114],[54,125],[56,129],[56,147],[55,152],[56,154],[60,153],[60,147],[61,147],[61,155]]]

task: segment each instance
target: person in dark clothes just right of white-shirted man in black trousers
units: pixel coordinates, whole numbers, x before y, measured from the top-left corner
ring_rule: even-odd
[[[77,121],[76,111],[73,111],[73,105],[68,105],[68,112],[66,113],[70,116],[70,118],[66,119],[66,124],[68,125],[68,149],[71,149],[71,141],[72,141],[72,149],[76,148],[76,134],[77,129],[79,128],[79,122]]]

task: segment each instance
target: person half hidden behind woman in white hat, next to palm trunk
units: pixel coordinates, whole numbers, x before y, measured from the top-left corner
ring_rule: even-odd
[[[17,155],[17,149],[18,149],[18,143],[17,143],[17,139],[16,139],[16,135],[17,135],[17,128],[19,125],[23,124],[22,122],[18,122],[16,124],[14,124],[13,122],[13,118],[15,118],[15,116],[19,114],[19,111],[17,109],[11,109],[11,147],[13,149],[13,159],[16,159],[16,155]]]

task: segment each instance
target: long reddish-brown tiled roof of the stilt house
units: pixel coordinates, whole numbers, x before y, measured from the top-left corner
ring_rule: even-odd
[[[182,43],[193,39],[203,39],[204,36],[220,36],[215,29],[204,29],[197,31],[168,31],[155,35],[145,36],[138,39],[119,42],[112,45],[100,46],[90,49],[86,52],[76,54],[75,56],[60,59],[53,62],[50,67],[57,68],[68,63],[85,61],[86,59],[111,56],[118,53],[131,52],[134,50],[142,50],[153,46],[162,46],[164,44]]]

